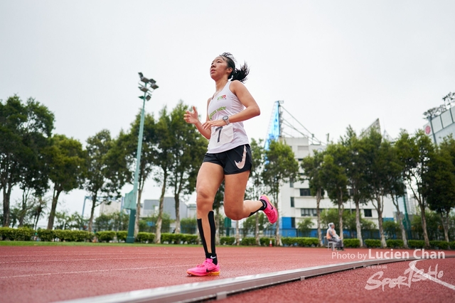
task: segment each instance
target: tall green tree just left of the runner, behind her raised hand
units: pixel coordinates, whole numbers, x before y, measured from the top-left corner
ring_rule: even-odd
[[[193,124],[182,118],[188,109],[183,101],[179,101],[170,114],[172,143],[169,152],[173,158],[168,181],[176,203],[176,233],[180,233],[180,198],[195,191],[200,163],[207,150],[207,140],[200,136]]]

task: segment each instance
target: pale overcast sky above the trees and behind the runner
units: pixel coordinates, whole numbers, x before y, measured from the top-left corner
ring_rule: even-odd
[[[245,122],[250,138],[267,136],[278,100],[321,141],[376,119],[395,138],[455,92],[454,11],[421,0],[0,0],[0,99],[35,98],[55,114],[53,133],[85,144],[129,129],[138,72],[159,85],[147,112],[183,100],[205,116],[210,62],[229,52],[250,66],[261,109]],[[149,182],[143,197],[159,192]],[[60,196],[58,211],[81,212],[85,195]]]

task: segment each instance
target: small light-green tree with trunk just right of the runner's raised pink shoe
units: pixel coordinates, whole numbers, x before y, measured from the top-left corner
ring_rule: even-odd
[[[294,152],[291,147],[284,142],[270,141],[269,149],[265,151],[264,171],[262,172],[262,180],[269,189],[269,194],[272,196],[272,203],[277,208],[278,219],[278,197],[279,189],[284,182],[296,180],[299,175],[299,162],[295,159]],[[277,221],[279,222],[279,221]],[[279,236],[279,224],[275,228],[275,243],[281,246],[281,238]]]

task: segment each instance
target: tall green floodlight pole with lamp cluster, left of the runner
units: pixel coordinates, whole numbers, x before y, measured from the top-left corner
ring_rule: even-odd
[[[137,209],[137,203],[141,203],[140,201],[137,201],[137,187],[138,187],[138,181],[139,181],[139,167],[141,166],[141,151],[142,151],[142,137],[144,136],[144,108],[145,108],[145,101],[150,99],[150,93],[149,89],[147,89],[147,84],[149,84],[149,79],[146,79],[142,77],[141,73],[139,73],[141,76],[141,80],[144,82],[144,96],[139,97],[142,99],[142,110],[141,110],[141,123],[139,125],[139,136],[137,138],[137,153],[136,153],[136,171],[134,172],[134,183],[133,183],[133,193],[134,193],[134,202],[136,207],[134,209],[129,210],[129,224],[128,224],[128,236],[127,236],[127,243],[134,243],[134,224],[136,221],[136,209]],[[145,79],[145,80],[143,80]],[[158,86],[156,86],[155,82],[150,82],[150,88],[151,89],[157,89]],[[140,89],[140,87],[139,87]],[[141,89],[142,90],[142,89]],[[147,95],[149,94],[149,95]],[[148,98],[147,98],[148,97]]]

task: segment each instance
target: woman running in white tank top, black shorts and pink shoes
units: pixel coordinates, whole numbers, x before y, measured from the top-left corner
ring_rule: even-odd
[[[275,209],[265,195],[257,201],[246,200],[245,189],[252,167],[251,148],[242,121],[259,116],[260,109],[243,84],[250,72],[245,63],[235,68],[230,53],[215,57],[210,65],[210,77],[215,81],[215,94],[207,101],[204,123],[198,111],[186,111],[184,119],[196,125],[209,140],[208,150],[198,172],[196,182],[196,216],[200,239],[205,250],[205,261],[187,270],[190,275],[219,275],[220,265],[215,253],[215,218],[213,201],[221,182],[225,180],[225,214],[240,220],[264,211],[271,224],[277,221]]]

